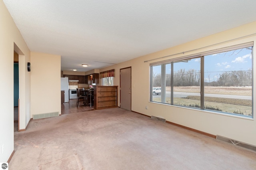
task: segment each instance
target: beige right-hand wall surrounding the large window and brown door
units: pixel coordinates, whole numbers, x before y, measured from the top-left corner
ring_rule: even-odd
[[[159,104],[150,102],[150,68],[149,64],[161,61],[164,59],[170,59],[175,57],[182,57],[190,54],[195,54],[203,51],[209,51],[212,49],[218,49],[221,47],[227,47],[230,45],[237,45],[240,43],[256,41],[255,34],[256,22],[240,26],[225,32],[214,34],[205,38],[194,40],[192,42],[184,43],[176,47],[171,47],[162,51],[158,51],[149,55],[138,57],[130,61],[119,63],[111,67],[100,69],[100,71],[106,71],[109,69],[116,69],[116,75],[114,77],[114,85],[120,85],[120,69],[125,67],[132,67],[132,111],[142,113],[148,116],[157,116],[166,119],[167,121],[177,123],[186,127],[201,130],[214,135],[226,136],[228,138],[236,139],[248,144],[256,145],[256,121],[254,119],[242,119],[238,117],[232,117],[227,115],[216,114],[213,112],[200,111],[197,109],[187,109],[184,107],[171,106],[166,104]],[[245,37],[244,37],[245,36]],[[248,36],[248,37],[247,37]],[[244,38],[240,38],[244,37]],[[238,40],[233,40],[240,38]],[[230,41],[233,40],[233,41]],[[222,43],[225,42],[225,43]],[[217,44],[218,45],[214,45]],[[206,47],[214,45],[211,47]],[[206,47],[200,50],[194,50],[190,53],[184,53],[175,55],[173,57],[166,57],[164,59],[156,59],[158,57],[164,57],[183,51],[189,51]],[[255,54],[254,48],[254,54]],[[146,60],[156,59],[154,61]],[[254,65],[256,61],[254,60]],[[254,73],[254,75],[256,75]],[[256,77],[254,76],[254,84]],[[254,91],[255,87],[254,87]],[[119,97],[120,99],[120,97]],[[255,99],[255,95],[254,95]],[[118,100],[120,101],[120,100]],[[253,103],[254,107],[255,102]],[[145,107],[148,106],[148,109]],[[256,117],[256,114],[254,114]]]

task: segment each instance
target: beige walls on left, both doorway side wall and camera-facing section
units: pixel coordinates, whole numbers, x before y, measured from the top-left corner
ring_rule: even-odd
[[[14,51],[19,61],[20,130],[26,128],[33,114],[61,113],[60,55],[31,53],[30,60],[30,50],[2,0],[0,25],[0,93],[4,96],[0,98],[0,134],[4,136],[0,138],[0,162],[6,162],[14,151]],[[31,72],[27,71],[28,62]]]

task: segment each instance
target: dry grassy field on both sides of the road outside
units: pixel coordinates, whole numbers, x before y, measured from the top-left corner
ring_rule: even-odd
[[[170,87],[166,87],[166,91],[170,91]],[[200,87],[174,87],[176,92],[200,93]],[[204,93],[224,94],[224,95],[252,95],[252,87],[205,87]],[[160,98],[153,101],[161,102]],[[174,98],[174,105],[198,105],[200,106],[200,96],[188,96],[186,98]],[[170,103],[170,99],[166,99],[166,103]],[[252,100],[246,99],[229,99],[218,97],[205,97],[204,106],[215,108],[227,113],[236,113],[242,115],[252,115]],[[215,110],[212,109],[212,110]]]

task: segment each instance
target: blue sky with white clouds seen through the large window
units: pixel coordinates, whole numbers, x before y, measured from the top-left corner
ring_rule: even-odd
[[[174,72],[180,69],[200,71],[200,58],[174,63]],[[225,71],[252,70],[252,49],[243,48],[206,55],[204,57],[204,70],[205,78],[208,79],[210,76],[210,81],[216,81],[216,78]],[[154,66],[153,71],[154,73],[161,73],[160,65]],[[170,74],[170,64],[166,65],[166,74]]]

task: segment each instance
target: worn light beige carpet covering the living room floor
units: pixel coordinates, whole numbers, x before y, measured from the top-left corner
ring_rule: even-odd
[[[30,121],[10,170],[252,170],[256,153],[120,108]]]

